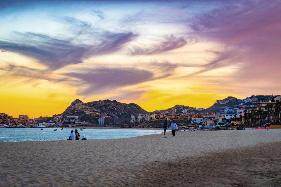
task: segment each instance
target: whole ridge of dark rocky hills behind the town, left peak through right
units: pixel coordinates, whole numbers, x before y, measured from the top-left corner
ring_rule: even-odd
[[[188,112],[223,112],[225,108],[245,108],[249,109],[251,105],[258,102],[258,99],[267,100],[269,96],[250,96],[245,99],[237,99],[235,97],[229,96],[222,100],[217,100],[212,106],[206,108],[205,110],[198,111],[196,108],[175,105],[173,108],[168,108],[166,110],[154,111],[155,113],[162,112],[172,112],[181,113],[182,109],[186,109]],[[92,101],[88,103],[83,103],[80,99],[76,99],[71,103],[70,106],[61,115],[76,115],[79,116],[82,121],[97,122],[98,117],[111,116],[111,117],[130,117],[131,115],[138,114],[148,114],[139,105],[135,103],[120,103],[116,100],[103,100],[103,101]]]

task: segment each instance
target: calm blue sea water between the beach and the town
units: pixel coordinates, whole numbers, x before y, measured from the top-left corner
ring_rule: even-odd
[[[70,131],[75,128],[67,128],[61,130],[57,128],[48,129],[31,129],[31,128],[0,128],[0,142],[15,142],[15,141],[52,141],[66,140],[69,138]],[[116,139],[130,138],[135,136],[143,136],[149,134],[162,133],[159,129],[84,129],[80,131],[77,128],[81,138],[87,139]]]

